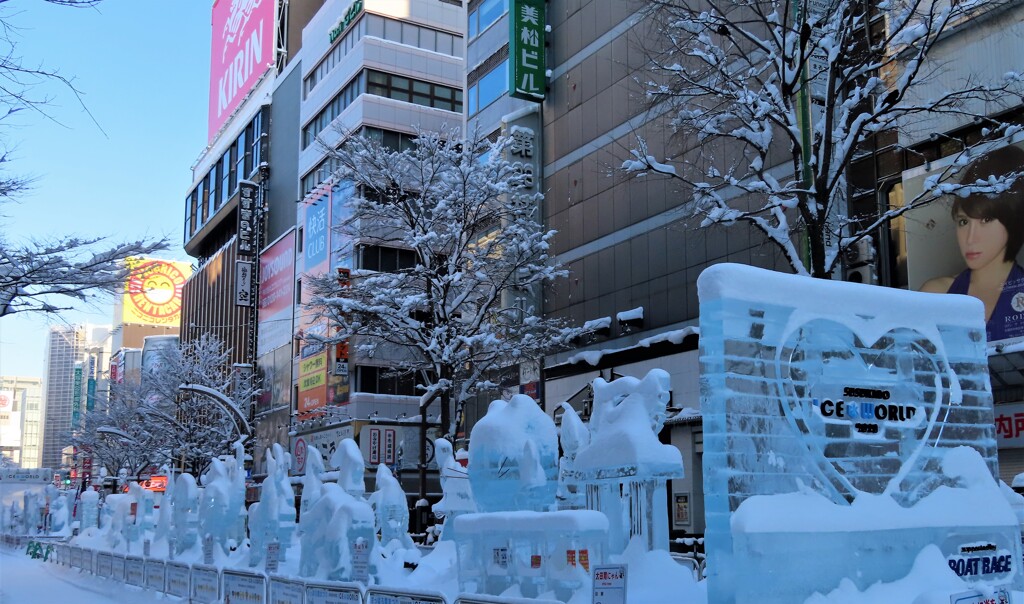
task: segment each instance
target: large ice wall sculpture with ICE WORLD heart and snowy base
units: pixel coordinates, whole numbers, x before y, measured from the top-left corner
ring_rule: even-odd
[[[730,264],[697,285],[709,602],[864,590],[932,545],[1019,585],[978,300]]]

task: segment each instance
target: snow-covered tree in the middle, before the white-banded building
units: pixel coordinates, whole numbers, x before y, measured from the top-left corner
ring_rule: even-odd
[[[330,152],[335,177],[354,187],[338,227],[344,252],[401,252],[395,266],[354,261],[349,283],[315,281],[311,307],[336,328],[328,341],[398,351],[396,371],[415,375],[425,401],[440,397],[445,430],[451,401],[580,333],[538,316],[536,291],[565,271],[548,256],[554,231],[538,222],[531,176],[503,159],[509,144],[423,132],[406,150],[351,136]]]

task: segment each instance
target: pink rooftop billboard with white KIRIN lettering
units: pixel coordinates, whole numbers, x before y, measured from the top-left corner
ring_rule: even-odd
[[[276,0],[216,0],[210,43],[209,135],[216,136],[273,67]]]

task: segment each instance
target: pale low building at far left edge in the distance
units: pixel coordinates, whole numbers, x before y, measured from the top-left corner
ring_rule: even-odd
[[[39,468],[43,438],[43,381],[0,376],[0,455],[22,468]]]

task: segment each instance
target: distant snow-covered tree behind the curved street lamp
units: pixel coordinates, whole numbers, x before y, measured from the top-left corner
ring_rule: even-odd
[[[225,409],[203,394],[181,392],[182,384],[223,393],[236,408]],[[143,374],[141,389],[142,413],[152,430],[170,451],[173,465],[194,476],[202,475],[212,458],[231,452],[240,437],[234,418],[248,417],[257,393],[253,384],[236,379],[230,350],[209,334],[162,352],[160,361]]]

